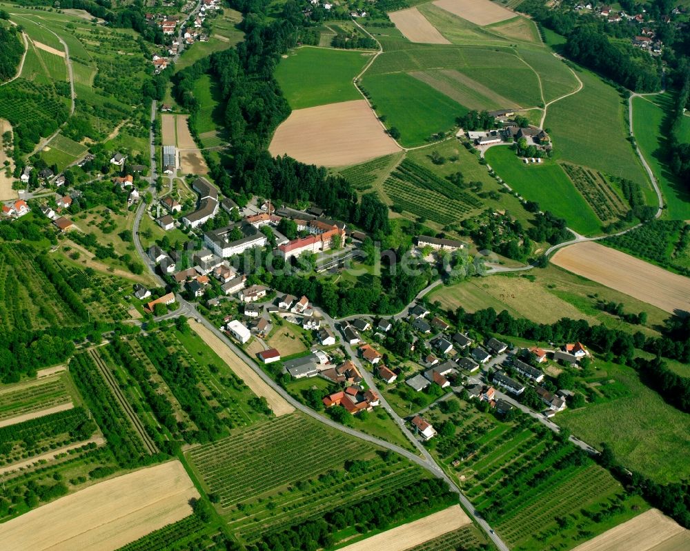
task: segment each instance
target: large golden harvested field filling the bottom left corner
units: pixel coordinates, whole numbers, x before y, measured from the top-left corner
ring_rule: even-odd
[[[179,461],[90,486],[0,524],[3,550],[110,551],[192,512],[199,497]]]

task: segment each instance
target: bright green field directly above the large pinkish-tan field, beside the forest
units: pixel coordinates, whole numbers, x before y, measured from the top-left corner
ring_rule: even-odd
[[[362,52],[305,46],[280,61],[275,78],[293,109],[362,99],[352,81],[370,58]]]

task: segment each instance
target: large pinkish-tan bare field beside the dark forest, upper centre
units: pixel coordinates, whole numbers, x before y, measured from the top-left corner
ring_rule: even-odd
[[[355,99],[293,111],[275,131],[268,150],[303,163],[345,166],[397,153],[400,148],[384,132],[368,103]]]

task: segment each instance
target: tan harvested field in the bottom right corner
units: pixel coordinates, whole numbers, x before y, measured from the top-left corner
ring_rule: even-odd
[[[682,551],[690,549],[690,531],[651,509],[578,545],[573,551]]]

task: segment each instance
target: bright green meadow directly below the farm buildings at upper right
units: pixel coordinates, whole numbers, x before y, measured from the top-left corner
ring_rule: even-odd
[[[540,165],[525,165],[511,148],[502,146],[489,149],[486,161],[513,190],[537,201],[542,210],[566,219],[576,232],[600,232],[601,222],[557,163],[545,160]]]

